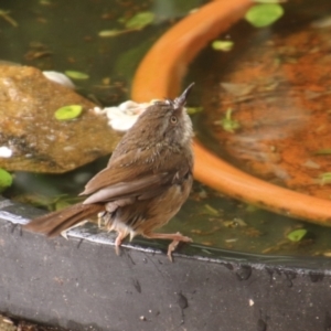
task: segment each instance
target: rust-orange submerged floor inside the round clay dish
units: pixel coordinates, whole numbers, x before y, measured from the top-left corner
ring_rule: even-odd
[[[330,26],[306,24],[247,50],[232,72],[221,75],[221,106],[209,121],[213,126],[224,109],[233,109],[241,129],[231,135],[213,127],[241,168],[323,199],[330,199],[328,185],[318,181],[331,166],[330,157],[319,153],[330,149],[331,140],[331,90],[324,71],[331,65],[330,34]]]

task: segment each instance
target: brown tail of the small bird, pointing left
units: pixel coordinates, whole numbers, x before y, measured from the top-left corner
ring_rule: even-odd
[[[53,212],[32,220],[23,227],[31,232],[38,232],[54,237],[61,232],[72,227],[79,222],[95,216],[105,210],[103,204],[77,203],[62,211]]]

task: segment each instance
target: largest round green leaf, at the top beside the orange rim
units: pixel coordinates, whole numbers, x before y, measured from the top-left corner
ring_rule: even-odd
[[[252,7],[245,15],[255,28],[264,28],[273,24],[284,14],[284,9],[277,3],[263,3]]]

